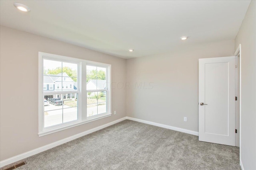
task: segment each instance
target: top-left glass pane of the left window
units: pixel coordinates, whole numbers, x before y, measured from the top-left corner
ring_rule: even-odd
[[[57,75],[61,76],[61,61],[53,61],[44,59],[44,75]]]

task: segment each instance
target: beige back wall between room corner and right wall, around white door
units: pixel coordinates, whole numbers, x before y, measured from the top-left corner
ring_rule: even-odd
[[[198,131],[198,59],[233,55],[234,41],[223,41],[128,59],[127,116]]]

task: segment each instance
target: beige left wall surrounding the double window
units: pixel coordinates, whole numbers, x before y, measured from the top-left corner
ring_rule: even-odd
[[[112,82],[126,81],[126,60],[2,26],[0,49],[1,161],[126,116],[126,92],[113,85],[116,115],[38,137],[38,51],[111,64]]]

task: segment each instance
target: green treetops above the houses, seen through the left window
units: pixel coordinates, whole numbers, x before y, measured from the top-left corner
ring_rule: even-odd
[[[68,76],[70,76],[72,78],[72,80],[74,80],[74,82],[77,81],[77,72],[76,70],[72,70],[72,68],[68,67],[68,66],[65,66],[65,67],[57,67],[55,69],[48,69],[48,70],[45,70],[44,69],[44,75],[49,75],[49,74],[52,74],[52,75],[56,75],[56,74],[59,74],[61,72],[66,72],[66,74],[68,74]]]

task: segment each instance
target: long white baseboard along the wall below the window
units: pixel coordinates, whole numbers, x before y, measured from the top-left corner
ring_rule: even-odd
[[[43,152],[43,151],[45,151],[45,150],[51,149],[51,148],[56,147],[56,146],[58,146],[58,145],[62,145],[62,144],[64,144],[64,143],[67,143],[67,142],[69,142],[69,141],[72,141],[72,140],[74,140],[74,139],[77,139],[77,138],[79,138],[79,137],[82,137],[82,136],[84,136],[84,135],[88,135],[88,134],[90,134],[90,133],[93,133],[93,132],[95,132],[95,131],[98,131],[98,130],[100,130],[100,129],[103,129],[103,128],[105,128],[105,127],[108,127],[108,126],[110,126],[110,125],[114,125],[114,124],[116,124],[116,123],[118,123],[118,122],[120,122],[120,121],[123,121],[123,120],[125,120],[125,119],[126,119],[126,117],[123,117],[123,118],[121,118],[121,119],[118,119],[118,120],[112,121],[112,122],[110,122],[110,123],[106,123],[106,124],[104,124],[104,125],[101,125],[101,126],[98,126],[98,127],[93,128],[93,129],[90,129],[90,130],[88,130],[88,131],[84,131],[84,132],[82,132],[82,133],[78,133],[78,134],[73,135],[73,136],[71,136],[71,137],[67,137],[67,138],[62,139],[62,140],[60,140],[60,141],[56,141],[56,142],[54,142],[54,143],[50,143],[50,144],[45,145],[45,146],[43,146],[43,147],[40,147],[40,148],[37,148],[37,149],[34,149],[34,150],[30,150],[30,151],[28,151],[28,152],[19,154],[19,155],[17,155],[17,156],[12,157],[12,158],[8,158],[8,159],[6,159],[6,160],[2,160],[2,161],[0,162],[0,168],[3,167],[3,166],[6,166],[6,165],[8,165],[8,164],[12,164],[12,163],[14,163],[14,162],[16,162],[16,161],[22,160],[22,159],[24,159],[24,158],[27,158],[27,157],[29,157],[29,156],[32,156],[32,155],[34,155],[34,154],[38,154],[38,153]]]

